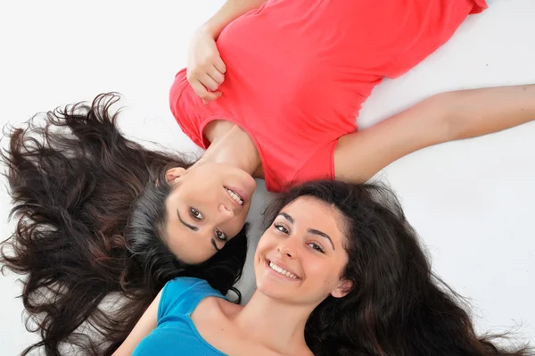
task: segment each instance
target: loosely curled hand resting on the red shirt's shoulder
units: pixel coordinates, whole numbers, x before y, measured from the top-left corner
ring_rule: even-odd
[[[203,103],[221,95],[218,87],[225,80],[225,72],[226,65],[219,56],[214,37],[204,29],[195,31],[189,47],[186,78]]]

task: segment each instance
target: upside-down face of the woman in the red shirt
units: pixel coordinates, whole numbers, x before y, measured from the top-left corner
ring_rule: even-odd
[[[256,182],[243,170],[205,163],[168,170],[166,242],[180,261],[207,261],[245,224]]]

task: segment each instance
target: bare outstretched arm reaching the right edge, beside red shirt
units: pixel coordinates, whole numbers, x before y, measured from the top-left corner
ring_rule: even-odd
[[[336,179],[364,182],[399,158],[430,145],[478,137],[535,120],[535,85],[442,93],[388,120],[341,137]]]

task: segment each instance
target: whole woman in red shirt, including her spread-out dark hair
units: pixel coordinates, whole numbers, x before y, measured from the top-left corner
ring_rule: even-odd
[[[535,86],[497,87],[435,95],[356,131],[353,117],[374,85],[432,53],[481,0],[272,0],[244,13],[252,4],[260,5],[228,2],[200,30],[189,81],[183,70],[171,88],[172,112],[207,148],[199,161],[121,136],[113,95],[9,134],[4,161],[18,225],[2,262],[29,275],[24,302],[48,354],[62,342],[116,343],[170,278],[217,279],[197,266],[205,261],[234,266],[253,177],[274,191],[315,178],[362,181],[422,147],[535,118]],[[209,29],[217,44],[202,35]],[[220,52],[224,77],[196,64],[207,47]],[[202,103],[202,83],[221,93],[217,100],[207,92]],[[238,275],[225,270],[221,291]],[[98,306],[109,294],[128,299],[106,314]],[[98,337],[75,332],[85,322]]]

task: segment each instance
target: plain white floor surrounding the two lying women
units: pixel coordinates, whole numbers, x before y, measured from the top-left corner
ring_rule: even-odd
[[[466,21],[436,54],[377,87],[360,124],[369,126],[440,91],[535,83],[535,1],[488,1],[490,9]],[[188,37],[222,3],[2,2],[0,124],[118,91],[129,107],[121,120],[128,135],[194,149],[169,112],[168,90],[185,66]],[[380,175],[398,191],[436,272],[471,302],[478,330],[513,328],[533,344],[534,138],[531,123],[414,153]],[[12,224],[5,221],[10,203],[2,179],[4,239]],[[251,216],[268,196],[260,185]],[[256,239],[260,232],[253,233]],[[36,339],[22,324],[15,279],[0,277],[2,355],[15,355]],[[246,279],[251,281],[251,269]],[[250,295],[251,283],[245,285]]]

